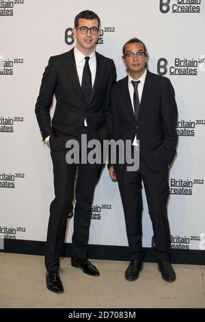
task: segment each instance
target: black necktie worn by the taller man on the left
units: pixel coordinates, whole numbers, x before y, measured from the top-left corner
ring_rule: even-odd
[[[87,104],[90,101],[90,95],[92,92],[92,75],[89,67],[90,57],[85,57],[85,65],[83,68],[83,77],[82,77],[82,92],[85,99],[85,103]]]

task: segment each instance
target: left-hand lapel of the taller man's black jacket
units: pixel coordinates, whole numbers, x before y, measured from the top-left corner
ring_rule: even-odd
[[[81,97],[83,97],[83,92],[81,90],[81,84],[79,82],[79,76],[77,73],[77,66],[74,59],[74,48],[72,48],[68,53],[64,55],[64,66],[68,73],[68,77],[72,82],[73,86],[77,89],[77,92]]]

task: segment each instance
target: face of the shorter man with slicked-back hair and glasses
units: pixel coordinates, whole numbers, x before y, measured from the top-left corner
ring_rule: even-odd
[[[134,42],[133,44],[126,44],[125,54],[126,53],[139,53],[143,52],[143,44],[141,42]],[[146,62],[148,62],[148,56],[145,54],[133,55],[133,57],[128,58],[127,56],[122,56],[124,65],[128,68],[128,72],[137,77],[141,77],[145,70]]]

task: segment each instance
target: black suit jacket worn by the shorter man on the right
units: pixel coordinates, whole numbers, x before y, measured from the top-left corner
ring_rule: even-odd
[[[113,138],[132,140],[137,134],[140,160],[159,171],[176,154],[177,107],[174,88],[167,77],[147,71],[137,121],[128,90],[128,76],[113,86]]]

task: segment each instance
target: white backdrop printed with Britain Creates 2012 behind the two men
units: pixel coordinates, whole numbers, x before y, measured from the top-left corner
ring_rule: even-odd
[[[205,249],[204,0],[0,0],[1,238],[46,240],[53,169],[34,107],[49,57],[74,47],[74,16],[87,9],[100,16],[97,51],[113,58],[118,79],[126,75],[122,46],[134,36],[148,48],[150,71],[171,79],[179,135],[169,177],[172,248]],[[144,193],[143,206],[143,245],[151,247]],[[72,219],[67,242],[71,236]],[[96,188],[90,244],[128,245],[118,184],[107,168]]]

